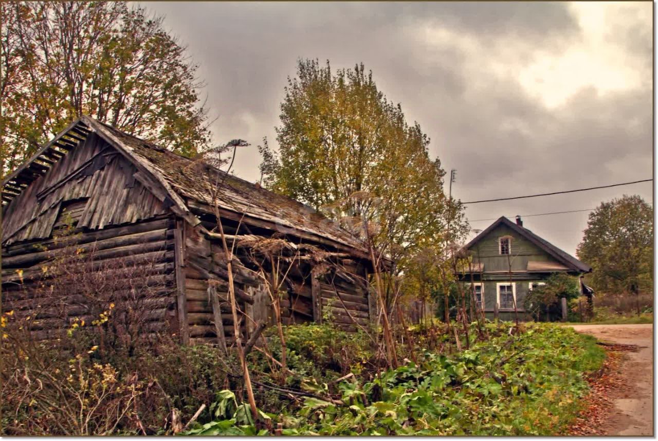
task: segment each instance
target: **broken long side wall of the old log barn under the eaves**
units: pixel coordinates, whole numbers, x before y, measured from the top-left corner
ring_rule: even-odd
[[[236,226],[232,222],[222,225],[226,234],[236,234]],[[204,226],[209,230],[213,228],[213,224],[206,221]],[[198,228],[189,224],[182,224],[182,229],[182,290],[185,293],[186,319],[181,320],[188,323],[189,342],[221,344],[222,332],[224,341],[229,342],[234,336],[234,326],[228,303],[228,272],[222,246],[218,240],[209,240]],[[231,244],[229,241],[228,245]],[[234,266],[238,307],[250,317],[243,318],[241,324],[245,337],[249,336],[255,323],[275,323],[266,284],[255,274],[257,268],[247,253],[248,250],[242,247],[236,248],[236,257],[242,265]],[[336,265],[327,264],[313,266],[305,260],[295,263],[280,290],[282,323],[321,323],[322,317],[328,317],[338,327],[354,331],[360,326],[368,326],[370,317],[376,319],[372,315],[374,309],[370,296],[363,287],[363,280],[367,278],[363,263],[343,260],[338,268],[337,271]],[[215,283],[209,284],[209,280],[215,280]],[[213,295],[217,296],[219,315],[216,305],[213,306]],[[216,326],[219,321],[222,328]]]

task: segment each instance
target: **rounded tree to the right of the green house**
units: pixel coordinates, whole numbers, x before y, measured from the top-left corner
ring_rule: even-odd
[[[639,195],[602,202],[576,251],[603,293],[653,290],[653,209]]]

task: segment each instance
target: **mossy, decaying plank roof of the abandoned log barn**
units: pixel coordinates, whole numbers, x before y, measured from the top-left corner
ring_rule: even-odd
[[[90,117],[80,117],[41,148],[32,158],[2,181],[3,204],[9,203],[24,188],[49,170],[50,165],[76,147],[86,136],[96,132],[138,168],[136,176],[174,213],[193,225],[200,224],[191,208],[213,204],[208,180],[222,180],[218,205],[222,215],[234,213],[246,224],[256,222],[267,228],[330,243],[365,255],[365,248],[355,236],[311,207],[290,197],[275,194],[256,184],[218,169],[199,173],[193,160],[177,155],[151,142],[141,140]],[[259,222],[261,221],[261,222]]]

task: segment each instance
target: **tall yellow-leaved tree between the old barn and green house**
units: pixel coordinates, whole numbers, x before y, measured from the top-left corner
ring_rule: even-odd
[[[429,138],[378,90],[363,64],[332,72],[302,60],[288,78],[276,128],[279,154],[261,147],[264,183],[337,219],[376,226],[374,242],[395,261],[463,228],[443,193]],[[356,232],[361,232],[356,227]]]

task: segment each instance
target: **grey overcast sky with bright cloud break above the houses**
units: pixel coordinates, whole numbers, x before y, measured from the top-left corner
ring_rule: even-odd
[[[365,63],[378,88],[457,169],[462,201],[651,178],[651,3],[143,3],[188,45],[207,83],[216,142],[253,144],[236,174],[256,181],[299,58]],[[446,186],[447,191],[447,186]],[[480,203],[492,219],[592,209],[653,184]],[[574,254],[588,213],[524,218]]]

